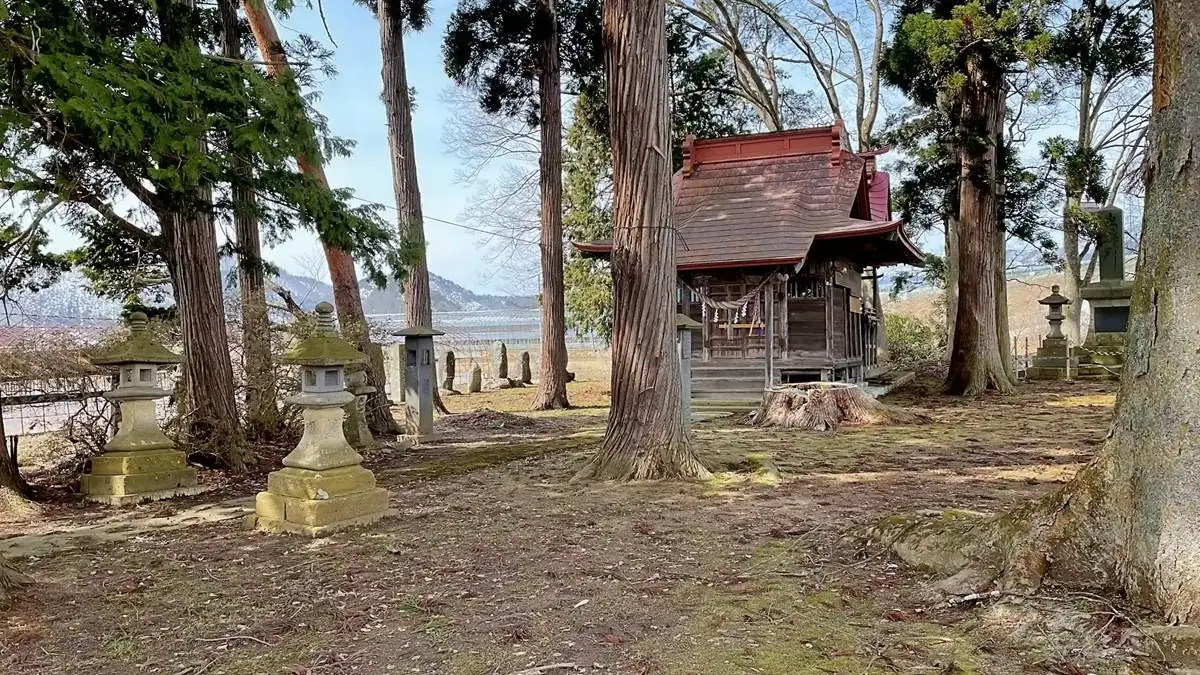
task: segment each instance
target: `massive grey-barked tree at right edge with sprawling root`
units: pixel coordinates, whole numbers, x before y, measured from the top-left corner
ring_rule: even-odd
[[[1145,225],[1109,438],[1075,478],[990,520],[880,533],[910,563],[1002,587],[1123,592],[1200,625],[1200,4],[1157,0]],[[1192,375],[1189,375],[1192,374]],[[893,519],[895,521],[896,519]]]

